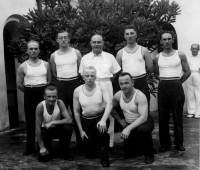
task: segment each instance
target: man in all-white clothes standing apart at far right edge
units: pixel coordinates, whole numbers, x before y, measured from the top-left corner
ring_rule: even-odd
[[[188,118],[200,118],[200,56],[199,44],[192,44],[189,58],[191,76],[187,80]]]

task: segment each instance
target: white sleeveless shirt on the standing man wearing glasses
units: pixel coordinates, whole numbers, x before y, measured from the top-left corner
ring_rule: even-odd
[[[55,64],[57,70],[57,77],[71,78],[77,76],[77,60],[75,49],[71,48],[71,51],[67,54],[59,55],[55,51]]]

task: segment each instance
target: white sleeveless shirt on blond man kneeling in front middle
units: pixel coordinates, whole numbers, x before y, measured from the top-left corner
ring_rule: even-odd
[[[105,110],[105,102],[99,83],[96,82],[95,92],[92,96],[87,96],[83,92],[83,85],[79,86],[79,102],[82,107],[83,115],[98,115]]]

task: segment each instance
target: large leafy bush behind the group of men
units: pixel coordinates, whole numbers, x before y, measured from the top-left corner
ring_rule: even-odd
[[[72,7],[70,0],[41,0],[42,9],[30,10],[25,21],[16,24],[9,50],[19,62],[26,58],[26,43],[37,40],[40,43],[40,57],[48,60],[58,49],[56,34],[67,29],[71,46],[84,55],[91,51],[90,39],[94,33],[103,36],[104,50],[116,55],[126,44],[124,27],[133,24],[138,32],[138,44],[151,52],[159,45],[164,25],[175,22],[180,6],[169,0],[79,0],[79,6]],[[148,75],[150,92],[155,93],[155,78]]]

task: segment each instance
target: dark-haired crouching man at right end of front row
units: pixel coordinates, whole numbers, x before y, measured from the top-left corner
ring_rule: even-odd
[[[154,162],[154,149],[151,132],[154,128],[153,118],[148,115],[146,96],[133,87],[134,81],[129,73],[119,75],[118,91],[113,97],[112,116],[123,127],[121,138],[124,139],[125,157],[131,158],[144,154],[146,164]],[[122,119],[114,110],[120,105],[125,119]]]

